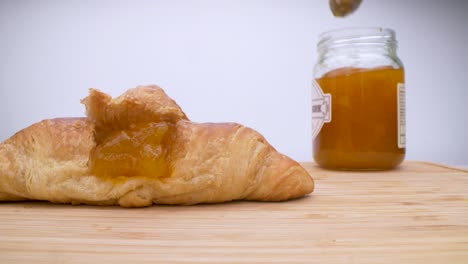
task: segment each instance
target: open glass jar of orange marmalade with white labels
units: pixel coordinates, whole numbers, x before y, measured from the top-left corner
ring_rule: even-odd
[[[324,168],[385,170],[405,157],[405,85],[395,32],[325,32],[312,89],[313,157]]]

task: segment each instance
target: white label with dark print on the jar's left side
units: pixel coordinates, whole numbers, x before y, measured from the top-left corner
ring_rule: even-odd
[[[312,81],[312,140],[324,123],[331,122],[331,94],[324,94],[317,81]]]

